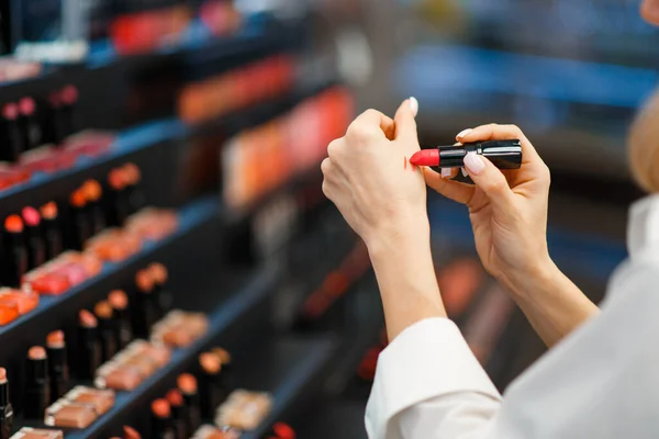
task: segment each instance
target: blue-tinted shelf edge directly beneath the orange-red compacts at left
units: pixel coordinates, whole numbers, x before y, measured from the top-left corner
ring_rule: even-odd
[[[135,272],[148,262],[176,260],[180,251],[188,250],[187,247],[194,244],[194,232],[203,230],[204,224],[216,222],[219,215],[215,196],[192,202],[178,211],[179,226],[172,235],[159,241],[146,241],[138,254],[122,262],[107,262],[97,277],[59,296],[41,296],[33,312],[0,327],[0,360],[15,358],[16,352],[43,342],[48,331],[65,327],[66,322],[80,309],[104,299],[118,285],[131,282]]]

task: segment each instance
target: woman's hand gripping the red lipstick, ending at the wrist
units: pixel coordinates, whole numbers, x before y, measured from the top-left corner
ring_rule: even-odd
[[[474,185],[443,179],[429,168],[424,168],[424,177],[431,188],[469,207],[484,268],[512,292],[523,292],[554,266],[547,249],[549,169],[515,125],[482,125],[457,136],[461,144],[515,138],[522,142],[520,169],[501,171],[487,158],[470,154],[465,168]]]

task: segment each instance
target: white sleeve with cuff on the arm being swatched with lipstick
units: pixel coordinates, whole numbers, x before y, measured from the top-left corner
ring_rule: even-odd
[[[500,404],[458,327],[429,318],[380,354],[366,428],[371,439],[468,438],[482,431]]]

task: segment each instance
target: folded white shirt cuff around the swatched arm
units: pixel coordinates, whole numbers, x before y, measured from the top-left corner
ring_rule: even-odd
[[[383,438],[389,420],[404,409],[457,392],[501,399],[453,320],[428,318],[410,326],[378,359],[366,410],[369,437]]]

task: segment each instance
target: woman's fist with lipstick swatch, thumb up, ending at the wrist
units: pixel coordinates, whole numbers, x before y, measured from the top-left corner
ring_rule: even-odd
[[[321,168],[323,192],[370,248],[403,230],[428,230],[426,187],[409,164],[420,150],[414,117],[418,103],[405,100],[394,120],[368,110],[330,144]]]

